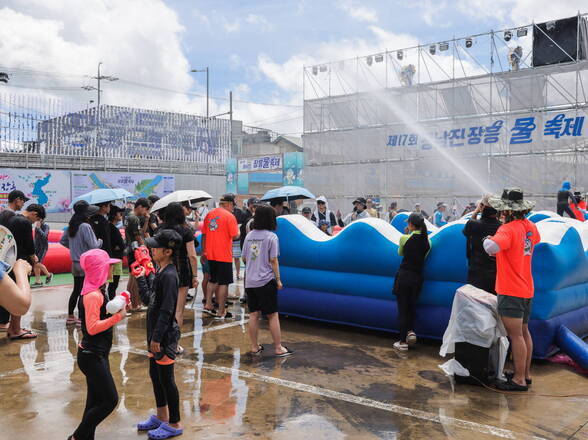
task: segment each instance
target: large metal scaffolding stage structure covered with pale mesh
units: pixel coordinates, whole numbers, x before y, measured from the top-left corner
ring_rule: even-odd
[[[566,20],[572,50],[550,33]],[[588,26],[566,20],[305,66],[307,186],[345,210],[360,195],[460,206],[508,186],[554,209],[562,180],[588,190]],[[539,62],[540,40],[557,62]]]

